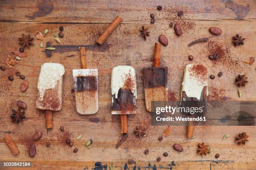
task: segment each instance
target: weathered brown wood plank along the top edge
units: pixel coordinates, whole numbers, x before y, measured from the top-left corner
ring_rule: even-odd
[[[156,7],[162,5],[161,11]],[[150,23],[149,15],[173,19],[179,10],[191,20],[253,20],[256,18],[254,0],[158,0],[158,1],[55,1],[8,0],[0,2],[0,20],[33,21],[39,23],[109,23],[116,15],[123,23]]]

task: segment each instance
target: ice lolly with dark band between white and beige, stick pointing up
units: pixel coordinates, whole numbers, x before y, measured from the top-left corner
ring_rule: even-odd
[[[73,79],[77,112],[90,115],[98,111],[98,69],[85,69],[85,52],[85,47],[80,47],[82,69],[73,70]]]

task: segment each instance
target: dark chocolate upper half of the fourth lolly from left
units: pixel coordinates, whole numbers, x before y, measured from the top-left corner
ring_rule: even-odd
[[[144,87],[167,87],[167,72],[167,67],[143,68]]]

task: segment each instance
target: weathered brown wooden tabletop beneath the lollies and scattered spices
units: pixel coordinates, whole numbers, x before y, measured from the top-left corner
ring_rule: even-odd
[[[158,5],[163,10],[156,9]],[[184,16],[177,17],[179,10]],[[149,15],[154,13],[155,24],[150,24]],[[94,45],[97,37],[108,27],[109,23],[120,15],[123,22],[100,47]],[[184,126],[173,127],[172,133],[161,142],[157,140],[166,128],[150,126],[150,114],[146,112],[141,69],[152,65],[154,42],[158,42],[160,34],[166,35],[169,45],[162,46],[161,65],[168,66],[169,99],[179,100],[184,66],[188,63],[203,63],[208,67],[209,74],[215,75],[215,80],[208,80],[209,99],[222,100],[256,100],[255,63],[250,66],[242,62],[255,57],[256,44],[256,2],[255,0],[101,0],[101,1],[62,1],[62,0],[1,0],[0,1],[0,65],[6,70],[0,70],[0,161],[30,161],[33,169],[256,169],[256,128],[255,126],[205,126],[195,128],[195,138],[187,139]],[[180,23],[183,35],[177,37],[169,23]],[[150,36],[144,41],[139,34],[142,26],[149,29]],[[64,38],[61,45],[54,41],[53,33],[59,32],[59,26],[64,27]],[[220,36],[208,32],[212,26],[221,28]],[[8,68],[5,64],[10,51],[18,50],[18,37],[22,33],[34,34],[36,31],[50,30],[44,37],[44,47],[56,47],[55,51],[46,52],[40,48],[41,40],[34,40],[28,51],[28,57],[17,61],[15,67]],[[239,33],[245,40],[245,45],[234,47],[231,37]],[[200,45],[187,47],[188,43],[200,38],[209,37],[210,41]],[[75,99],[72,95],[72,69],[80,67],[79,46],[86,45],[88,68],[99,69],[99,111],[95,115],[79,115],[75,109]],[[215,47],[222,50],[218,62],[207,59]],[[74,55],[74,57],[67,57]],[[188,55],[193,55],[190,62]],[[13,55],[11,55],[13,56]],[[48,57],[46,57],[48,56]],[[37,80],[40,66],[44,62],[59,62],[65,67],[63,107],[54,112],[54,129],[48,134],[45,129],[44,112],[36,109]],[[115,149],[120,138],[120,118],[111,115],[110,75],[117,65],[131,65],[136,69],[137,77],[137,114],[128,116],[128,139]],[[21,80],[15,76],[19,70],[26,76],[29,87],[26,92],[20,92]],[[223,77],[218,77],[219,71]],[[234,77],[246,74],[248,83],[240,88],[241,98],[237,95]],[[13,75],[14,81],[8,80]],[[16,109],[16,101],[23,100],[28,105],[26,119],[23,124],[10,122],[11,109]],[[146,138],[136,138],[132,131],[136,125],[148,128]],[[64,126],[65,134],[71,136],[74,146],[64,144],[63,133],[59,127]],[[27,146],[31,143],[33,134],[40,130],[43,136],[35,142],[37,154],[30,158]],[[246,132],[249,142],[237,145],[235,136]],[[13,156],[6,146],[3,137],[10,134],[20,149]],[[75,140],[82,134],[81,140]],[[230,137],[222,140],[224,134]],[[84,143],[92,139],[92,148],[88,150]],[[51,146],[46,148],[46,142]],[[213,152],[201,157],[197,155],[197,143],[205,142],[212,146]],[[184,152],[177,153],[172,145],[179,143]],[[77,153],[73,149],[77,147]],[[149,154],[144,155],[144,150]],[[162,156],[167,152],[168,157]],[[215,159],[219,153],[220,158]],[[156,158],[162,160],[157,163]],[[133,159],[136,164],[126,164]],[[95,166],[101,162],[102,166]],[[99,165],[99,163],[96,165]],[[3,168],[3,167],[1,167]],[[9,168],[13,170],[14,168]],[[18,168],[26,169],[26,168]]]

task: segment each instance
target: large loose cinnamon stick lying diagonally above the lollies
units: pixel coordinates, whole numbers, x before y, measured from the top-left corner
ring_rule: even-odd
[[[120,16],[115,17],[115,19],[112,21],[112,23],[108,26],[108,28],[100,35],[100,37],[97,39],[97,43],[100,45],[105,42],[107,37],[117,28],[117,26],[123,21],[123,19]]]

